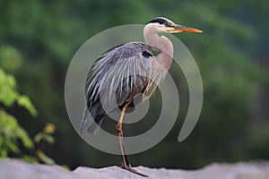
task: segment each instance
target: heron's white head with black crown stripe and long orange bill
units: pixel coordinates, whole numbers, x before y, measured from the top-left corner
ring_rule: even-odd
[[[152,21],[149,21],[147,25],[151,25],[157,32],[166,32],[166,33],[178,33],[178,32],[203,32],[202,30],[196,30],[194,28],[189,28],[186,26],[178,25],[173,21],[170,21],[164,17],[156,17]]]

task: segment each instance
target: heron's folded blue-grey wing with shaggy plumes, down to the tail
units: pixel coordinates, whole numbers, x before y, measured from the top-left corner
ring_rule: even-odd
[[[128,43],[104,55],[91,69],[82,132],[96,132],[104,115],[142,92],[151,72],[151,49],[143,43]]]

